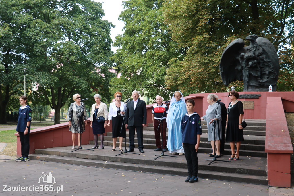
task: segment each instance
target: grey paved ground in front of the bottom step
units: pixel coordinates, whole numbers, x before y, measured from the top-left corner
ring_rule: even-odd
[[[294,195],[291,188],[280,189],[265,185],[243,184],[219,180],[199,179],[186,183],[186,177],[140,173],[125,170],[86,167],[30,160],[3,160],[0,155],[0,182],[5,190],[17,187],[53,185],[53,191],[4,191],[0,195]],[[42,182],[41,175],[51,172],[55,184]],[[45,177],[44,179],[49,179]],[[47,186],[49,189],[51,187]],[[11,188],[9,188],[11,187]],[[56,193],[56,190],[62,187]],[[32,188],[31,188],[32,189]],[[54,191],[55,190],[55,191]]]

